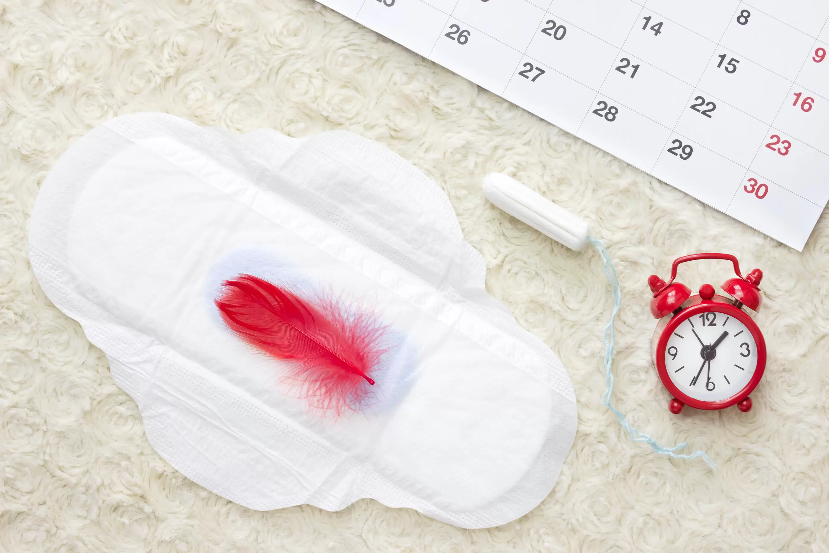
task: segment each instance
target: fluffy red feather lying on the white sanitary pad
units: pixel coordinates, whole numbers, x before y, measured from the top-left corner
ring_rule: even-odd
[[[371,372],[387,351],[385,327],[336,298],[301,298],[250,274],[225,280],[216,308],[225,324],[270,357],[289,361],[311,405],[341,413],[371,399]]]

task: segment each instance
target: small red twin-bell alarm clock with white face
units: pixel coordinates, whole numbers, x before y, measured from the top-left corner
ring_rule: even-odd
[[[738,278],[721,286],[729,298],[715,295],[710,284],[691,296],[685,284],[674,282],[679,264],[694,260],[734,264]],[[737,404],[743,412],[751,409],[749,394],[766,368],[766,342],[745,308],[759,311],[762,278],[760,269],[743,277],[734,255],[694,254],[674,260],[667,284],[656,274],[647,279],[653,292],[651,313],[660,319],[653,332],[653,362],[674,396],[671,413],[678,414],[685,405],[715,410]]]

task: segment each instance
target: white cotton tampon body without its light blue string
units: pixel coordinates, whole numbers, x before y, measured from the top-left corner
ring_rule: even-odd
[[[587,221],[512,177],[500,172],[489,173],[483,177],[483,193],[503,211],[571,250],[581,250],[587,241]]]

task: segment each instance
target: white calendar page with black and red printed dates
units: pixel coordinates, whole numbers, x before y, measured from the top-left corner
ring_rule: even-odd
[[[366,26],[798,250],[829,200],[829,60],[809,61],[822,61],[823,7],[820,22],[750,0],[704,14],[664,0],[321,1],[359,6]],[[801,94],[812,104],[787,108]],[[768,186],[738,201],[751,176]]]

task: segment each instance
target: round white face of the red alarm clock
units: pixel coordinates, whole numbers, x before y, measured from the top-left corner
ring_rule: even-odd
[[[665,368],[683,394],[700,401],[733,397],[757,370],[757,344],[739,319],[708,311],[682,321],[668,338]]]

